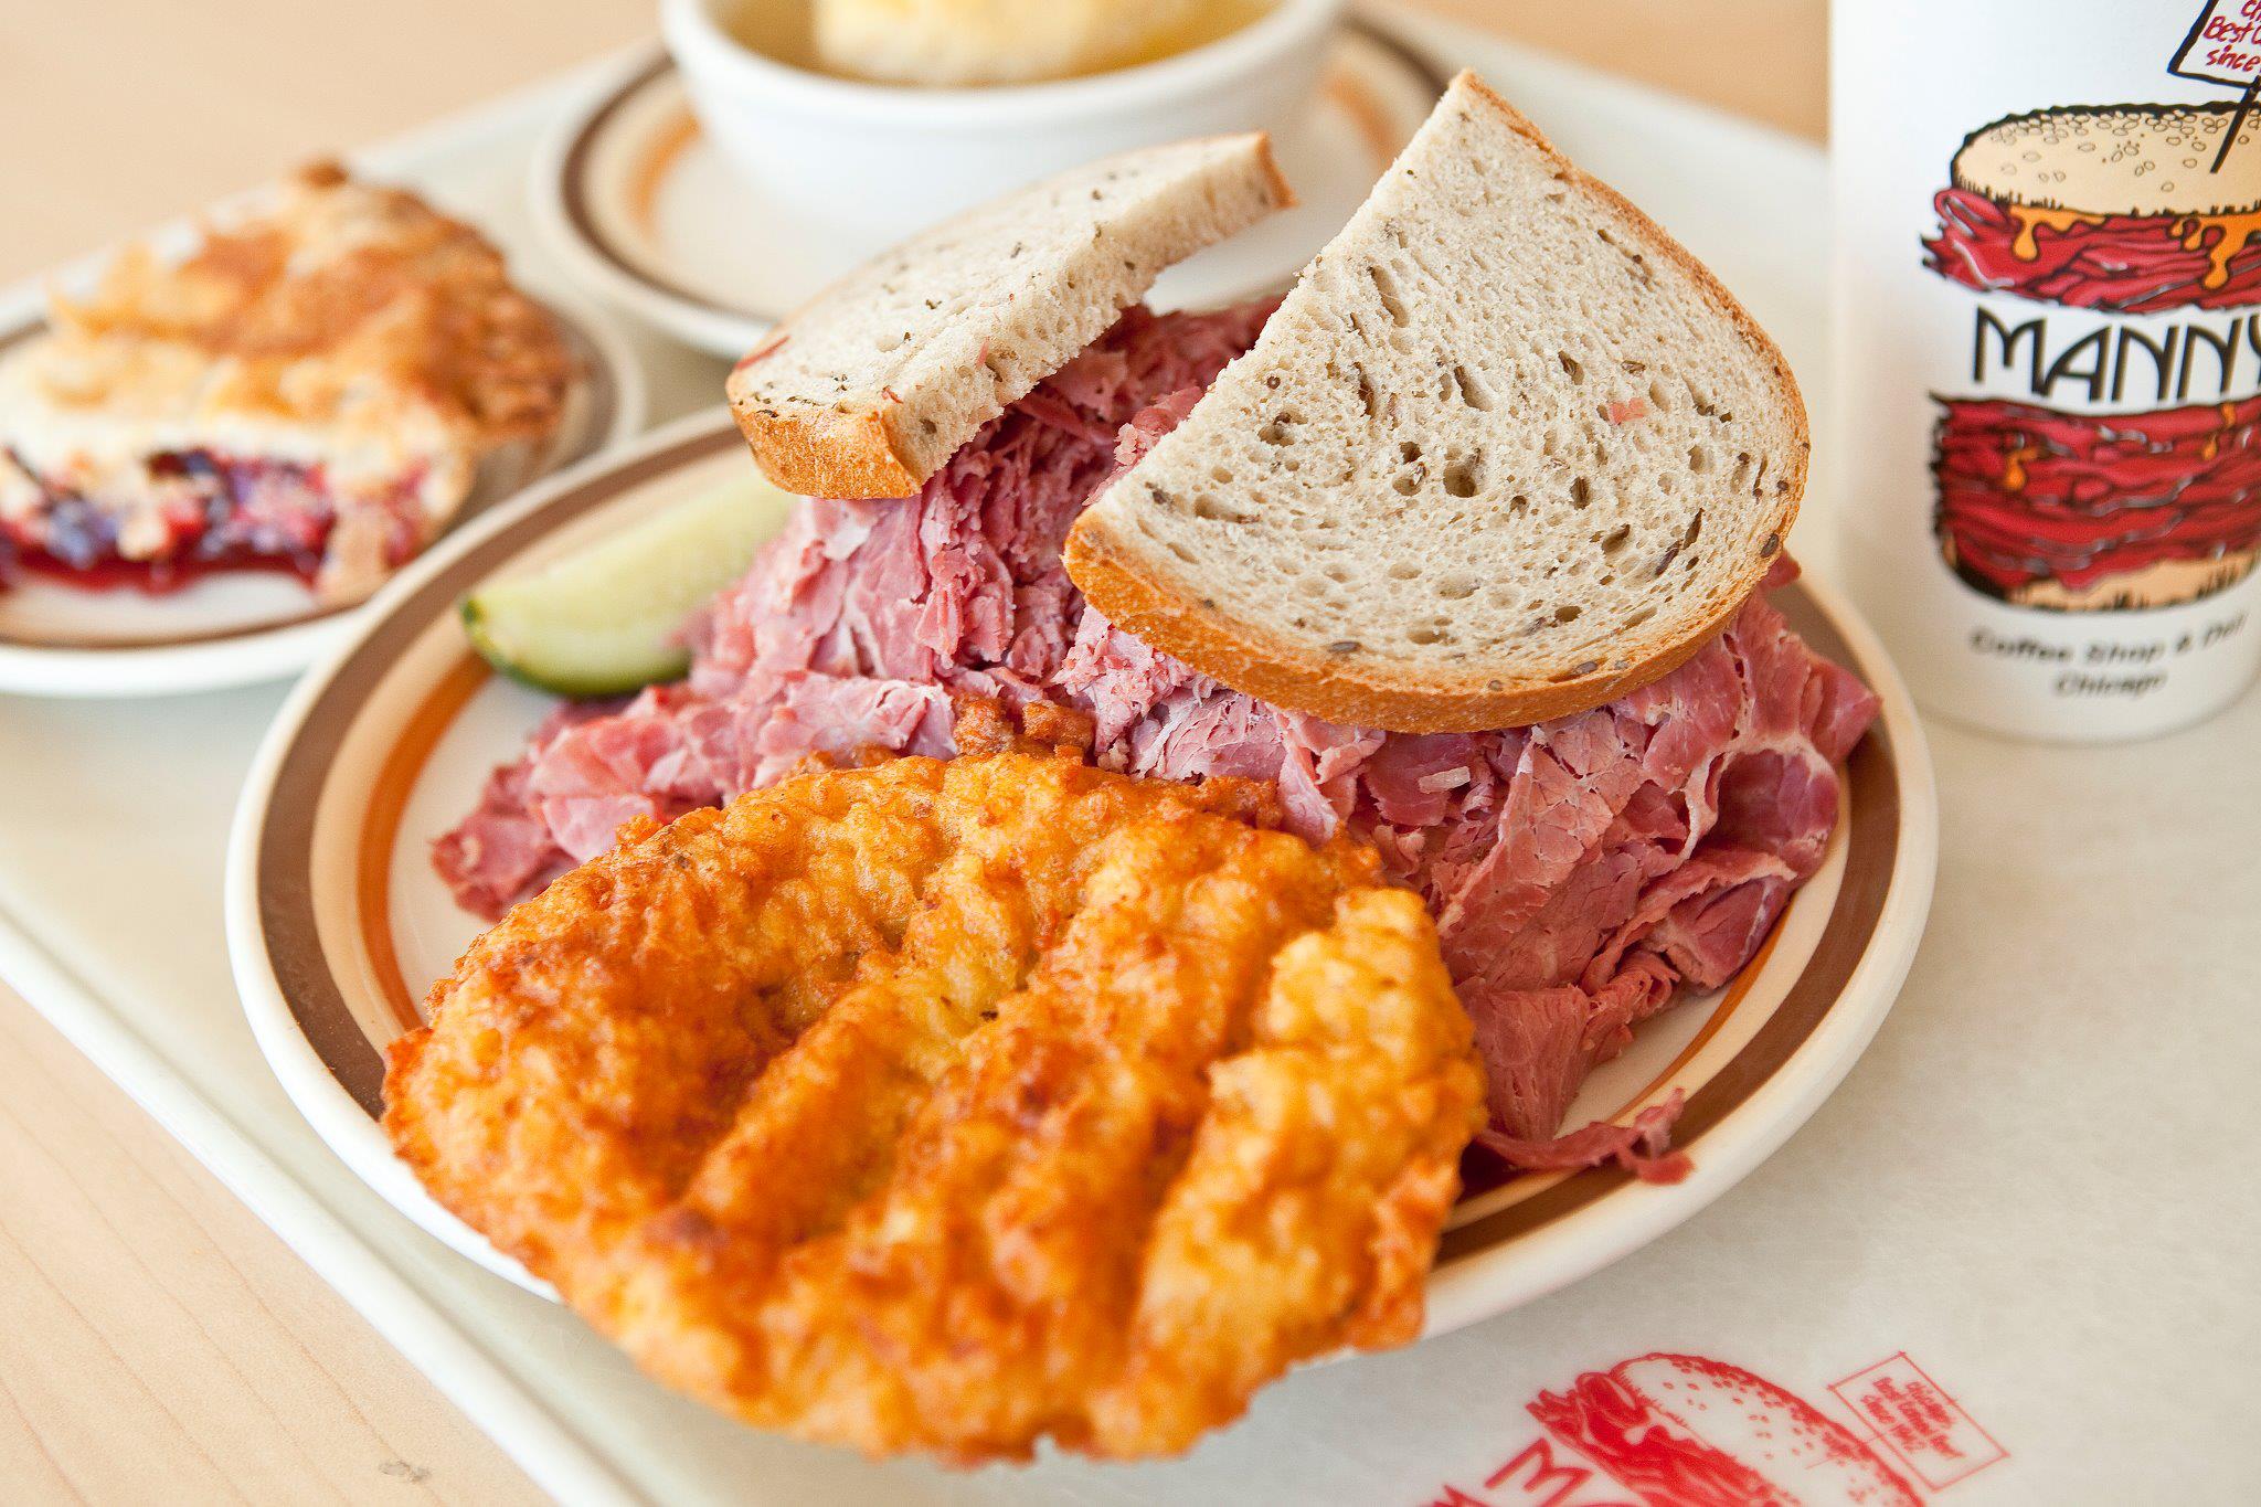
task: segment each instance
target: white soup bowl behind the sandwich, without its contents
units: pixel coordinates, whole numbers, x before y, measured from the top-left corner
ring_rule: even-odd
[[[850,267],[968,206],[1110,151],[1273,131],[1318,88],[1345,0],[1277,0],[1212,43],[1056,84],[909,88],[780,63],[730,0],[660,0],[699,124],[771,203]]]

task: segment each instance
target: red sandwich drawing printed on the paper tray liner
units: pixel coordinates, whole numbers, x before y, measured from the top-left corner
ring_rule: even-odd
[[[1849,1428],[1743,1367],[1639,1356],[1531,1403],[1646,1507],[1920,1507]]]

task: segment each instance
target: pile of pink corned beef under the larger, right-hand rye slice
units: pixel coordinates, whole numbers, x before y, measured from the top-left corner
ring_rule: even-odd
[[[1348,825],[1429,901],[1490,1071],[1485,1143],[1519,1166],[1635,1023],[1682,983],[1725,983],[1759,949],[1820,865],[1834,766],[1877,705],[1764,596],[1619,703],[1429,737],[1266,707],[1094,621],[1060,687],[1092,707],[1103,761],[1277,779],[1291,825]],[[1585,1141],[1644,1175],[1678,1173],[1641,1143]]]

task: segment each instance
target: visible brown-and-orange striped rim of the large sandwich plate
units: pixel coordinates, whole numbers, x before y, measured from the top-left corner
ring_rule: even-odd
[[[479,922],[434,877],[454,825],[549,700],[470,653],[457,599],[572,551],[746,465],[724,411],[692,416],[493,511],[373,603],[355,642],[285,705],[253,766],[228,854],[228,947],[260,1048],[314,1130],[378,1193],[473,1261],[545,1290],[439,1209],[380,1127],[382,1048],[418,1023],[425,985]],[[1587,1082],[1571,1121],[1687,1094],[1678,1143],[1696,1170],[1648,1186],[1619,1170],[1479,1188],[1445,1236],[1431,1331],[1583,1277],[1727,1191],[1836,1087],[1883,1019],[1931,899],[1938,809],[1899,676],[1829,592],[1775,601],[1822,653],[1883,696],[1845,768],[1847,809],[1822,870],[1723,992],[1641,1028]]]

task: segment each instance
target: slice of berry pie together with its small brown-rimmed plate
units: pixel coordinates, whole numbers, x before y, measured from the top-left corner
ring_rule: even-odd
[[[418,197],[314,165],[0,337],[0,687],[296,669],[468,508],[635,423],[626,357]]]

